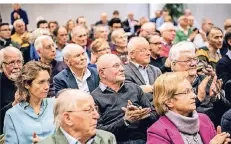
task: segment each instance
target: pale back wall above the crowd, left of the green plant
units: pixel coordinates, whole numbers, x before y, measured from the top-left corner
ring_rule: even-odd
[[[119,10],[121,19],[127,17],[132,11],[136,19],[149,16],[148,4],[23,4],[29,17],[29,30],[36,28],[36,18],[39,16],[49,20],[57,20],[61,25],[69,19],[85,16],[88,24],[93,24],[100,19],[101,12],[107,12],[109,18],[114,10]],[[4,22],[10,22],[11,4],[0,4],[0,12]]]

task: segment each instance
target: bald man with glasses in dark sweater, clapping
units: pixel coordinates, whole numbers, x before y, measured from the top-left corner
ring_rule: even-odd
[[[145,144],[146,130],[157,120],[156,112],[138,85],[124,83],[118,56],[102,55],[97,64],[100,84],[91,95],[99,107],[98,128],[112,132],[118,144]]]

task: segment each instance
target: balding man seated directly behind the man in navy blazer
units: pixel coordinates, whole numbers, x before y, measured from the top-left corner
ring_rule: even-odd
[[[76,26],[71,31],[72,42],[80,45],[84,49],[84,54],[87,58],[87,63],[90,63],[91,51],[87,48],[87,30],[82,25]]]

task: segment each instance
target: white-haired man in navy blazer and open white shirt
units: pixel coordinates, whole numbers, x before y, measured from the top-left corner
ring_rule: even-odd
[[[94,68],[87,67],[87,58],[81,46],[68,44],[63,49],[63,58],[68,68],[54,77],[56,93],[65,88],[90,93],[99,85],[98,73]]]

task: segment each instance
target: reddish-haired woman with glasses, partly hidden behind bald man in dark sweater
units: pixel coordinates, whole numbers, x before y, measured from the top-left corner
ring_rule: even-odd
[[[111,53],[111,49],[105,39],[98,38],[91,43],[91,52],[91,64],[95,64],[101,55]]]

